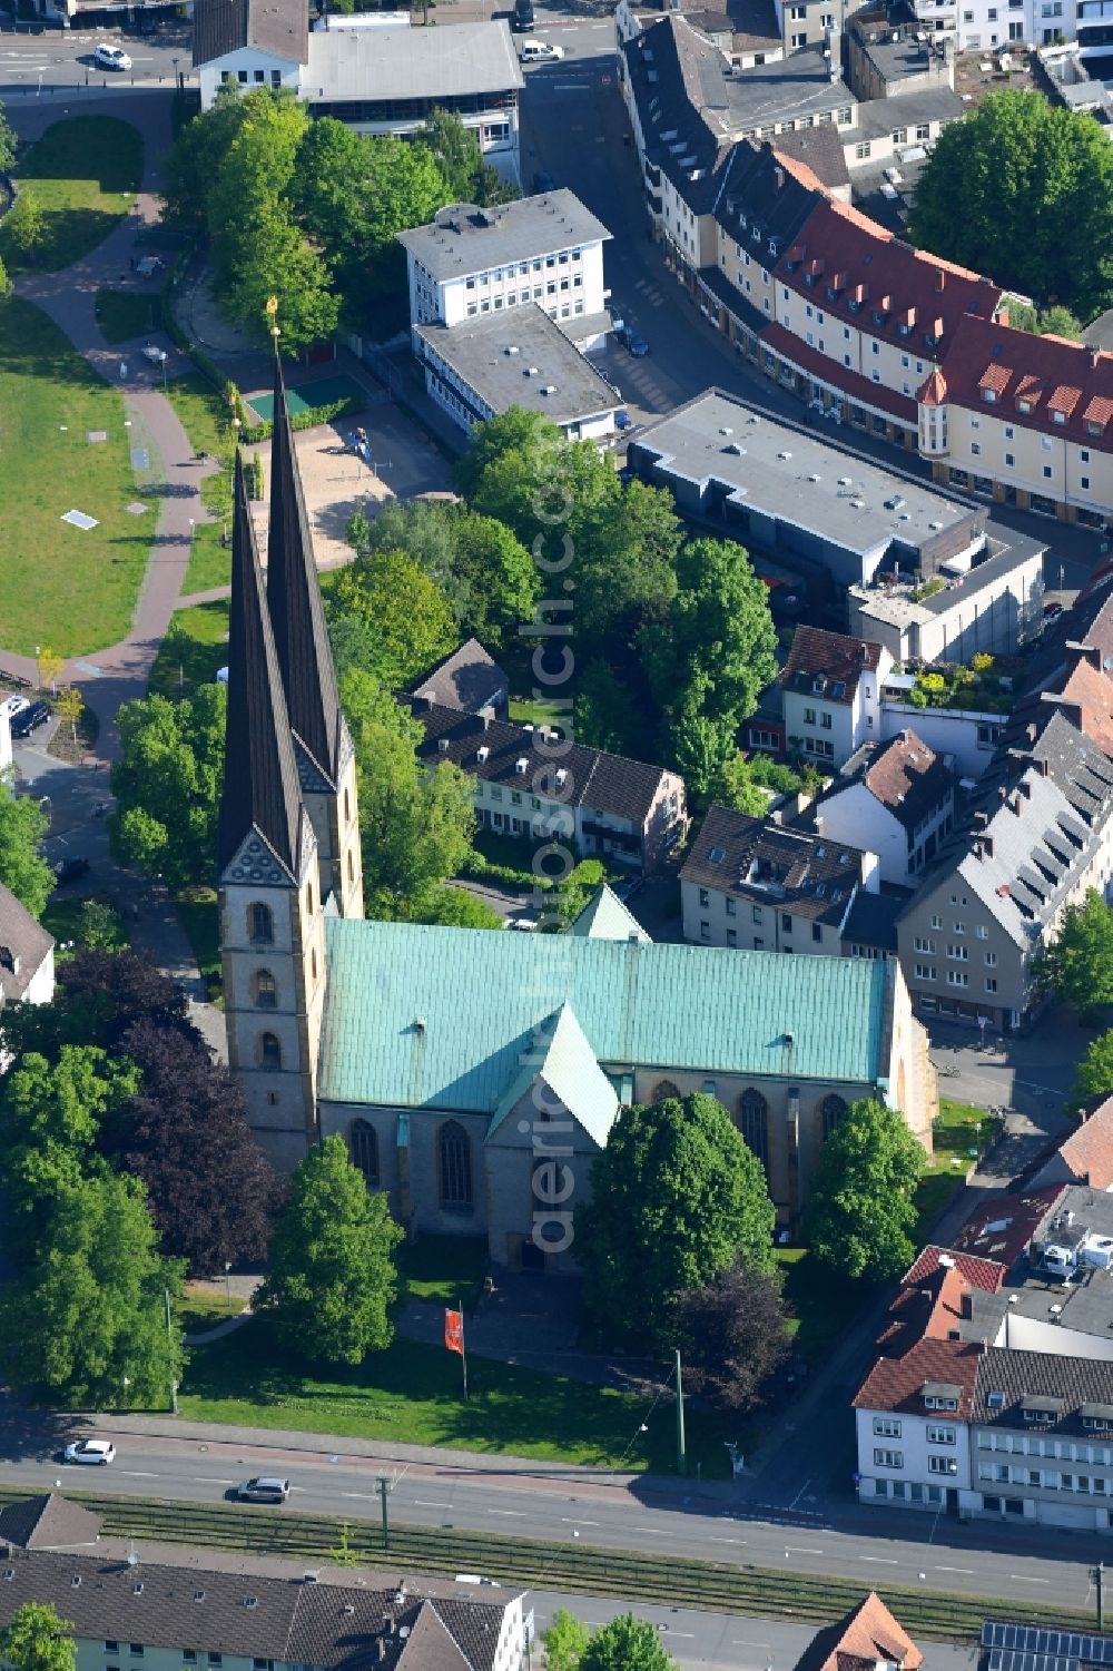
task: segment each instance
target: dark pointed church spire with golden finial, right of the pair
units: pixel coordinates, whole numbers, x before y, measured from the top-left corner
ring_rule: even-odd
[[[304,764],[334,790],[341,765],[336,667],[324,627],[318,565],[313,556],[313,536],[277,354],[274,356],[267,605],[291,730],[307,757]],[[311,787],[309,780],[306,787]]]

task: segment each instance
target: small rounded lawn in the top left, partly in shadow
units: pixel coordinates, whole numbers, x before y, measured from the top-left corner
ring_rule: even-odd
[[[35,267],[58,272],[102,244],[127,214],[144,177],[139,129],[112,115],[55,122],[18,160],[15,177],[43,211],[43,241]],[[8,271],[28,262],[0,226],[0,257]]]

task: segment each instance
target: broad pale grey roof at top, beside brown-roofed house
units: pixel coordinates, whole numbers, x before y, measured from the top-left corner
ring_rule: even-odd
[[[448,99],[521,87],[505,18],[451,28],[329,28],[309,35],[309,102]],[[316,90],[319,89],[319,92]]]

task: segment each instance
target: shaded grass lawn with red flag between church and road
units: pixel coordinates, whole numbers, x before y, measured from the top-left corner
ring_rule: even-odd
[[[353,1370],[319,1375],[286,1360],[262,1318],[191,1352],[179,1395],[187,1420],[291,1427],[416,1445],[508,1450],[598,1467],[675,1465],[675,1414],[665,1395],[588,1387],[560,1375],[468,1359],[471,1399],[463,1400],[460,1359],[440,1347],[396,1340]],[[725,1477],[724,1432],[689,1407],[690,1469]],[[642,1422],[648,1432],[638,1434]],[[739,1424],[732,1424],[735,1435]]]

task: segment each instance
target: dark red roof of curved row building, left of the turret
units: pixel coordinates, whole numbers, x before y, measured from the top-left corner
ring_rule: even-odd
[[[912,249],[896,239],[886,227],[877,226],[859,209],[836,199],[819,202],[800,231],[800,244],[811,251],[822,251],[827,272],[836,274],[831,289],[816,286],[809,289],[802,281],[802,272],[790,272],[792,252],[779,262],[777,277],[799,294],[822,296],[821,306],[836,319],[854,323],[867,334],[884,338],[899,344],[907,344],[911,354],[921,358],[938,358],[941,349],[924,341],[924,331],[943,338],[943,346],[954,336],[959,321],[971,314],[971,309],[989,321],[1001,302],[1001,291],[989,279],[939,261],[924,251]],[[794,262],[795,264],[795,262]],[[849,307],[849,301],[859,299],[857,311]],[[869,297],[879,297],[884,319],[877,324],[872,317]],[[911,314],[911,317],[909,317]],[[922,329],[916,333],[916,321]],[[938,321],[943,321],[938,326]],[[901,336],[901,324],[911,328],[911,334]],[[841,371],[839,379],[847,373]]]

